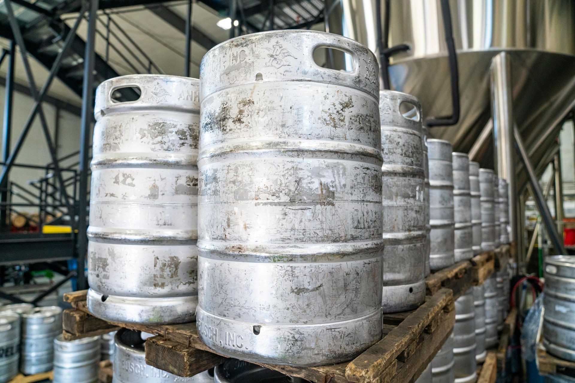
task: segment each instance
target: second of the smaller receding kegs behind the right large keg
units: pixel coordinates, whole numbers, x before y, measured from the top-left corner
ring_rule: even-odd
[[[455,262],[473,258],[471,233],[471,187],[469,156],[453,153],[453,211],[455,219]]]

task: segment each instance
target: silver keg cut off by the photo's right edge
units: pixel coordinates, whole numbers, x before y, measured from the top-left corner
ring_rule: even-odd
[[[575,257],[545,258],[543,345],[550,354],[575,361]]]

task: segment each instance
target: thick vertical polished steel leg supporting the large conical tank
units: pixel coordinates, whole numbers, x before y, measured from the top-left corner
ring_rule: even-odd
[[[509,238],[517,242],[517,187],[513,155],[513,90],[511,57],[501,52],[491,63],[491,106],[493,115],[494,164],[497,175],[507,180],[509,195]]]

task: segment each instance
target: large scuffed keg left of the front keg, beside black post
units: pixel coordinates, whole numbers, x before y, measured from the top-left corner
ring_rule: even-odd
[[[118,89],[140,98],[117,102]],[[106,80],[96,90],[88,309],[122,323],[196,319],[200,81]]]

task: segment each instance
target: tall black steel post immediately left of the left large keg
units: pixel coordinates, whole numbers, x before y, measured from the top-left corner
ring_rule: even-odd
[[[84,56],[84,81],[82,86],[82,125],[80,130],[80,183],[78,189],[78,289],[86,288],[84,272],[88,237],[86,234],[87,201],[88,201],[88,170],[91,137],[91,123],[94,113],[94,43],[95,27],[98,17],[98,0],[90,1],[88,14],[88,30],[86,36],[86,52]]]

